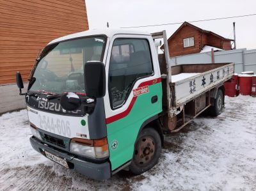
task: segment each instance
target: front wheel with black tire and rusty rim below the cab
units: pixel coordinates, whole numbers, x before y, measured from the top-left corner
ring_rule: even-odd
[[[133,174],[142,174],[157,164],[161,153],[161,138],[154,128],[145,128],[139,134],[129,166]]]

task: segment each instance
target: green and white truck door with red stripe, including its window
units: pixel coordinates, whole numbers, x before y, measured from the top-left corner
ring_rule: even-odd
[[[116,35],[108,52],[104,104],[109,158],[115,170],[131,160],[141,125],[162,111],[162,87],[151,36]]]

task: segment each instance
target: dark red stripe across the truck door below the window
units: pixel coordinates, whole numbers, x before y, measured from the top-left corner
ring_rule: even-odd
[[[157,79],[154,79],[154,80],[148,80],[147,82],[142,82],[138,86],[138,88],[140,88],[142,86],[151,86],[151,85],[154,85],[154,84],[157,84],[157,83],[160,83],[160,82],[161,82],[161,78],[157,78]],[[120,114],[116,114],[115,116],[111,116],[109,118],[106,118],[106,124],[113,123],[114,121],[117,121],[117,120],[122,119],[125,116],[127,116],[129,114],[129,112],[131,112],[132,107],[133,107],[136,99],[137,99],[137,96],[132,98],[130,105],[128,106],[128,108],[125,111],[120,112]]]

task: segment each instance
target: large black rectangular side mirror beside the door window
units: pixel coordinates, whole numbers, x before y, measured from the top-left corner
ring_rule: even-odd
[[[84,65],[84,86],[86,95],[102,98],[106,93],[105,66],[100,61],[88,61]]]

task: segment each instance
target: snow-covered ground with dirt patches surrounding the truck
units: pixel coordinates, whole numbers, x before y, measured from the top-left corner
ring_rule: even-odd
[[[226,97],[218,118],[167,135],[159,164],[140,176],[94,181],[29,144],[26,111],[0,116],[0,190],[256,190],[256,98]]]

